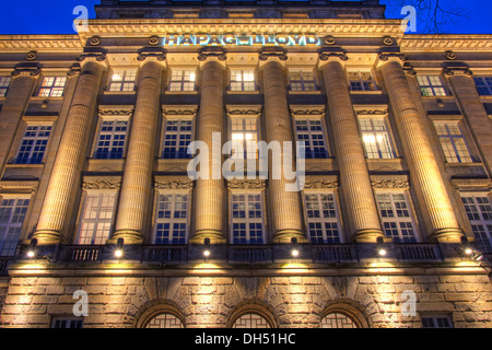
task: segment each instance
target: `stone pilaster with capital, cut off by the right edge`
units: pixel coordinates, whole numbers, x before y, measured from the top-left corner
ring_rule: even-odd
[[[449,67],[444,74],[452,83],[468,126],[477,141],[483,163],[489,174],[492,171],[492,125],[489,115],[480,101],[473,81],[473,73],[466,67]]]

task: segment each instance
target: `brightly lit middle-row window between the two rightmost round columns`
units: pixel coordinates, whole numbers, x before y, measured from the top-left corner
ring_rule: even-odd
[[[361,137],[370,160],[394,159],[395,152],[385,118],[360,117]]]

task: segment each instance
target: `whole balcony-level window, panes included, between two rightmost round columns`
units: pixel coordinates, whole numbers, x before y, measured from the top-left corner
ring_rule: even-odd
[[[405,194],[377,194],[377,206],[385,235],[395,243],[414,243],[413,217]]]

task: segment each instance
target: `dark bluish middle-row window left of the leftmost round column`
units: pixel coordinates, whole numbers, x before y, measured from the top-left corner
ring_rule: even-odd
[[[25,129],[15,164],[42,164],[48,145],[50,125],[31,125]]]

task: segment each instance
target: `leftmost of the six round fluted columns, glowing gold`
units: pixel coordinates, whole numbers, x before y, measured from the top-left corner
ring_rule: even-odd
[[[39,244],[65,242],[63,225],[73,201],[95,115],[97,94],[106,69],[103,55],[81,56],[82,70],[68,113],[65,132],[46,190],[34,237]]]

